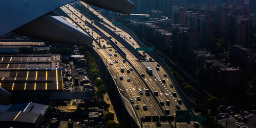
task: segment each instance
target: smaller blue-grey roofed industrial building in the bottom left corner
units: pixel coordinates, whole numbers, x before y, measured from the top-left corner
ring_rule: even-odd
[[[38,127],[49,106],[37,103],[0,105],[1,127]]]

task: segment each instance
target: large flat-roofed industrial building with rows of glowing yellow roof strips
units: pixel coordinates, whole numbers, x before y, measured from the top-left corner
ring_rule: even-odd
[[[24,98],[46,98],[53,91],[62,91],[60,56],[0,56],[0,87]]]

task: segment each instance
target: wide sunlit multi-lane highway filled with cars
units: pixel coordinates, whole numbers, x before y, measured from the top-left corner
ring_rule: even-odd
[[[89,7],[85,3],[82,3],[82,4],[86,7]],[[164,116],[163,110],[166,110],[166,109],[169,109],[170,111],[169,115],[175,115],[175,110],[177,110],[176,105],[178,105],[177,100],[179,99],[179,95],[177,94],[177,96],[174,96],[172,94],[173,92],[176,92],[174,87],[170,87],[170,84],[172,84],[172,81],[170,80],[168,75],[166,76],[163,75],[166,72],[161,66],[159,66],[159,70],[156,70],[157,62],[155,62],[154,60],[138,61],[138,58],[136,58],[135,55],[133,55],[129,49],[127,49],[124,45],[122,45],[122,42],[119,42],[118,39],[115,38],[116,35],[113,35],[113,34],[110,35],[108,32],[106,32],[105,29],[102,29],[97,25],[95,25],[95,23],[93,23],[93,21],[91,19],[88,19],[86,16],[83,15],[81,17],[82,14],[70,5],[63,6],[61,7],[61,9],[64,12],[66,12],[71,19],[73,19],[72,21],[69,18],[66,18],[67,21],[72,23],[75,27],[77,27],[81,31],[90,34],[95,39],[95,41],[98,38],[99,42],[96,43],[94,41],[93,44],[95,45],[95,47],[93,48],[101,56],[102,60],[104,61],[104,63],[106,64],[110,72],[112,73],[120,93],[129,101],[130,99],[134,99],[134,104],[131,104],[131,105],[139,121],[140,121],[140,117]],[[95,13],[95,15],[98,15],[101,19],[103,18],[102,20],[104,22],[101,22],[101,23],[104,24],[105,27],[109,28],[116,34],[120,34],[120,36],[123,37],[125,41],[129,42],[130,45],[132,45],[134,48],[139,47],[136,41],[132,37],[130,37],[129,34],[125,33],[124,31],[122,31],[117,27],[114,27],[109,20],[102,17],[97,11],[93,10],[90,7],[89,9],[90,11]],[[87,23],[85,23],[84,21],[87,21]],[[93,28],[96,28],[101,33],[96,32],[95,29],[93,30]],[[102,36],[102,33],[105,36],[112,37],[111,40],[113,42],[117,41],[118,47],[121,48],[122,51],[126,54],[126,60],[128,60],[132,65],[130,65],[127,62],[123,62],[124,58],[119,55],[119,52],[116,53],[117,56],[114,56],[115,49],[110,44],[106,44],[107,40],[103,38],[99,39],[99,37]],[[103,45],[105,45],[105,48],[103,48]],[[110,54],[112,55],[110,56]],[[140,54],[142,55],[142,51],[140,52]],[[151,57],[147,55],[146,60],[149,60],[149,58]],[[118,62],[116,62],[116,60]],[[113,65],[110,65],[110,63],[113,63]],[[120,72],[121,67],[124,68],[123,73]],[[131,67],[134,67],[134,69],[136,69],[138,73],[135,70],[131,70],[130,73],[127,73],[126,70],[130,69]],[[153,76],[147,75],[145,70],[146,67],[151,67],[153,69]],[[139,76],[141,73],[145,74],[145,77],[142,79]],[[120,75],[124,76],[123,80],[119,79]],[[127,79],[129,78],[131,82],[127,81]],[[165,79],[165,83],[162,82],[163,79]],[[145,89],[147,87],[144,83],[146,83],[146,85],[149,87],[149,89],[151,89],[152,92],[155,92],[155,91],[158,92],[158,96],[155,95],[156,100],[153,97],[154,93],[151,93],[150,96],[145,95]],[[144,94],[142,95],[139,94],[140,90],[142,90]],[[137,100],[137,96],[141,97],[140,101]],[[166,100],[170,101],[169,105],[166,104]],[[163,105],[160,105],[161,101],[163,101],[164,103]],[[136,104],[140,105],[139,110],[136,110],[135,108]],[[147,106],[146,111],[142,109],[142,106],[144,104]],[[181,104],[180,110],[187,110],[187,109],[184,105]],[[161,127],[170,127],[170,125],[166,121],[161,122],[161,124],[162,124]],[[143,126],[144,125],[146,127],[156,127],[156,123],[153,124],[151,122],[143,122]],[[193,125],[187,124],[187,123],[177,123],[177,127],[193,127]]]

